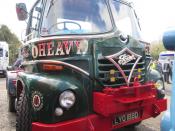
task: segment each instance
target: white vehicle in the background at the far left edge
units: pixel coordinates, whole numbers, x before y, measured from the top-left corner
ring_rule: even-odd
[[[9,65],[9,47],[7,42],[0,41],[0,74],[6,75]]]

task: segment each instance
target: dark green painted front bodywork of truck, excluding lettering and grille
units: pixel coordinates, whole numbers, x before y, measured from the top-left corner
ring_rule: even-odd
[[[147,74],[147,66],[149,64],[149,58],[145,53],[145,45],[140,41],[128,37],[128,41],[123,43],[120,39],[120,33],[117,29],[113,29],[111,32],[97,35],[94,38],[80,38],[68,37],[67,39],[60,39],[59,37],[50,37],[49,39],[40,39],[29,41],[23,46],[23,72],[18,74],[18,82],[23,83],[23,89],[28,97],[28,103],[32,112],[33,121],[44,122],[44,123],[56,123],[59,121],[66,121],[82,116],[87,116],[93,112],[93,92],[102,91],[103,84],[98,80],[98,57],[109,56],[121,51],[124,48],[128,48],[132,52],[142,56],[142,59],[146,63],[143,72]],[[106,36],[106,34],[108,34]],[[42,56],[32,57],[32,46],[37,46],[41,43],[58,43],[63,41],[77,41],[86,40],[88,41],[88,51],[85,54],[76,54],[76,49],[72,47],[72,52],[68,55],[53,55],[53,56]],[[52,51],[56,52],[57,46],[52,47]],[[45,50],[46,54],[48,49]],[[74,65],[87,74],[64,66],[63,70],[55,72],[44,72],[40,61],[42,60],[54,60],[63,61],[65,63]],[[146,77],[143,78],[142,83],[146,82]],[[17,90],[19,85],[17,84]],[[60,107],[59,95],[65,91],[71,90],[76,95],[75,105],[70,109],[63,108],[63,115],[56,116],[55,108]],[[32,93],[38,91],[42,95],[43,107],[39,111],[35,111],[32,108]]]

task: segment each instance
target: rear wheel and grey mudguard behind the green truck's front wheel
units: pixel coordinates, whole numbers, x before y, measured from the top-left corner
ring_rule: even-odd
[[[17,73],[21,71],[21,62],[22,58],[18,58],[15,63],[8,67],[7,76],[6,76],[6,88],[7,88],[7,95],[8,95],[8,108],[10,112],[16,111],[16,80],[17,80]]]

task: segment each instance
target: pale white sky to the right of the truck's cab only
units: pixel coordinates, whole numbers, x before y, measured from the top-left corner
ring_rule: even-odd
[[[161,39],[163,31],[175,27],[175,0],[133,0],[133,3],[144,38]]]

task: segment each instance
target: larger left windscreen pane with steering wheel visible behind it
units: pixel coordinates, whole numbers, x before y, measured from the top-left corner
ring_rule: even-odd
[[[111,29],[105,0],[47,0],[41,35],[94,34]]]

